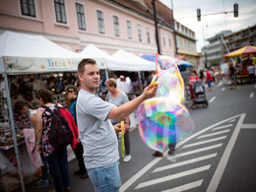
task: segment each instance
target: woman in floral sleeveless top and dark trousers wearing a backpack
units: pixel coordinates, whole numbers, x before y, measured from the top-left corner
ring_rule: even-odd
[[[55,191],[70,191],[71,183],[69,176],[69,165],[67,158],[67,145],[58,146],[52,142],[51,133],[56,131],[55,125],[61,126],[60,128],[67,129],[68,123],[62,123],[60,120],[65,118],[60,115],[60,110],[57,105],[53,103],[53,94],[42,89],[36,93],[36,97],[39,99],[40,107],[36,112],[36,146],[37,150],[42,152],[43,156],[49,165],[50,174],[54,181]],[[57,119],[58,118],[58,119]],[[57,119],[57,120],[56,120]],[[68,140],[70,143],[70,137],[72,142],[73,133],[70,134],[70,128],[68,127]],[[54,136],[55,142],[62,142],[64,139],[61,134]]]

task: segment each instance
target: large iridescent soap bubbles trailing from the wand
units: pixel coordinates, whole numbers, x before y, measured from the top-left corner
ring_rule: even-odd
[[[160,152],[168,145],[187,138],[195,127],[187,108],[182,104],[184,82],[176,62],[156,55],[153,83],[158,83],[157,96],[142,102],[137,110],[142,140],[150,148]]]

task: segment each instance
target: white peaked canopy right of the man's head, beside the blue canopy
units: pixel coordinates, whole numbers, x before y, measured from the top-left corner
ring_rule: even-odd
[[[122,49],[117,50],[111,58],[119,63],[109,63],[108,69],[114,71],[155,71],[156,65]]]

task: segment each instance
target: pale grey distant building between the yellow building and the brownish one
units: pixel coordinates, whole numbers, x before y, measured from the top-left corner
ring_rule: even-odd
[[[230,34],[231,31],[219,32],[215,36],[208,38],[209,44],[202,48],[205,67],[220,65],[223,61],[224,45],[222,36]]]

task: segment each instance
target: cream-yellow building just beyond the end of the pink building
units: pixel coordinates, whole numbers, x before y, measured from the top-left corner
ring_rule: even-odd
[[[198,68],[200,54],[196,51],[195,32],[178,22],[175,22],[174,28],[177,46],[176,56],[185,55],[185,60],[193,64],[195,68]]]

